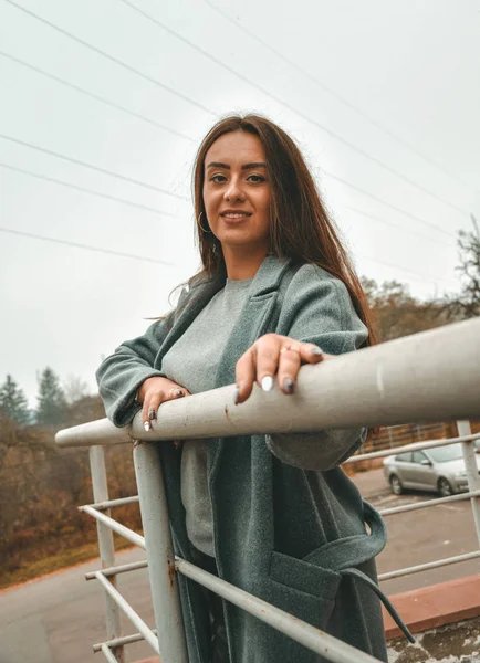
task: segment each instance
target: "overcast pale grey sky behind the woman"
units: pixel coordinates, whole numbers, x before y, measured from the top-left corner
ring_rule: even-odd
[[[197,270],[182,197],[231,110],[296,138],[359,274],[459,288],[456,233],[480,215],[479,0],[132,0],[165,28],[122,0],[14,3],[93,46],[0,0],[0,381],[32,406],[48,365],[93,391],[102,356]]]

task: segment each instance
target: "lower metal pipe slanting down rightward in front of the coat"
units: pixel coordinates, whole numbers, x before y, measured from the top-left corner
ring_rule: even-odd
[[[188,561],[177,558],[176,568],[179,573],[187,576],[187,578],[210,589],[278,631],[285,633],[285,635],[300,642],[300,644],[303,644],[311,651],[322,654],[322,656],[332,663],[352,663],[352,661],[355,661],[355,663],[378,663],[378,660],[369,654],[358,651],[346,642],[337,640],[320,629],[315,629],[311,624],[249,594],[238,587],[233,587],[233,585],[204,571],[204,569]]]

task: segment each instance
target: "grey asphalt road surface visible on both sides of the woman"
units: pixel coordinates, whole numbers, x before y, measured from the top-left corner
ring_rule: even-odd
[[[378,508],[435,498],[436,495],[390,495],[382,471],[354,478],[364,497]],[[476,550],[478,541],[468,501],[387,517],[389,541],[378,557],[378,571],[432,561]],[[121,552],[117,564],[143,559],[142,550]],[[66,571],[0,592],[0,663],[98,663],[92,644],[105,639],[105,603],[95,580],[83,573],[98,568],[91,561]],[[388,594],[477,575],[473,560],[415,573],[382,583]],[[140,617],[153,625],[153,609],[146,570],[118,577],[119,590]],[[134,632],[124,622],[124,633]],[[144,643],[127,648],[127,663],[150,655]]]

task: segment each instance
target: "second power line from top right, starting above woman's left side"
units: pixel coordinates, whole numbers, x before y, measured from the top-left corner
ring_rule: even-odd
[[[8,2],[11,2],[12,0],[7,0]],[[221,60],[218,60],[217,57],[215,57],[215,55],[211,55],[210,53],[208,53],[208,51],[205,51],[204,49],[201,49],[200,46],[197,46],[197,44],[195,44],[194,42],[191,42],[190,40],[188,40],[187,38],[182,36],[181,34],[179,34],[178,32],[176,32],[175,30],[173,30],[171,28],[168,28],[167,25],[165,25],[161,21],[159,21],[158,19],[156,19],[155,17],[150,15],[149,13],[147,13],[146,11],[144,11],[143,9],[139,9],[138,7],[136,7],[133,2],[131,2],[129,0],[118,0],[119,2],[122,2],[123,4],[126,4],[127,7],[129,7],[133,11],[136,11],[137,13],[139,13],[140,15],[143,15],[144,18],[146,18],[147,20],[152,21],[153,23],[155,23],[156,25],[158,25],[159,28],[161,28],[163,30],[165,30],[168,34],[171,34],[174,36],[176,36],[179,41],[188,44],[190,48],[195,49],[196,51],[198,51],[199,53],[201,53],[205,57],[207,57],[208,60],[210,60],[211,62],[215,62],[217,65],[221,66],[222,69],[227,70],[228,72],[230,72],[231,74],[233,74],[234,76],[237,76],[238,78],[240,78],[241,81],[246,82],[248,85],[251,85],[252,87],[255,87],[257,90],[259,90],[262,94],[265,94],[267,96],[269,96],[270,98],[272,98],[274,102],[276,102],[278,104],[281,104],[282,106],[284,106],[285,108],[288,108],[289,110],[291,110],[292,113],[295,113],[296,115],[299,115],[299,117],[302,117],[303,119],[305,119],[306,122],[310,122],[311,124],[313,124],[314,126],[316,126],[319,129],[321,129],[322,131],[325,131],[326,134],[328,134],[328,136],[331,136],[332,138],[334,138],[335,140],[338,140],[340,143],[342,143],[343,145],[346,145],[347,147],[349,147],[351,149],[353,149],[354,151],[356,151],[357,154],[359,154],[361,156],[363,156],[366,159],[369,159],[371,161],[373,161],[374,164],[376,164],[377,166],[380,166],[382,168],[384,168],[385,170],[387,170],[388,172],[392,172],[393,175],[395,175],[396,177],[398,177],[399,179],[404,180],[405,182],[407,182],[408,185],[410,185],[411,187],[415,187],[416,189],[418,189],[419,191],[422,191],[424,193],[427,193],[428,196],[430,196],[431,198],[435,198],[436,200],[438,200],[439,202],[446,204],[447,207],[456,210],[457,212],[459,212],[460,214],[468,214],[469,212],[467,210],[463,210],[462,208],[459,208],[458,206],[456,206],[452,202],[449,202],[448,200],[445,200],[444,198],[441,198],[440,196],[438,196],[437,193],[435,193],[434,191],[429,191],[428,189],[426,189],[425,187],[422,187],[421,185],[417,183],[415,180],[411,180],[410,178],[406,177],[405,175],[403,175],[401,172],[398,172],[398,170],[395,170],[395,168],[392,168],[392,166],[388,166],[387,164],[385,164],[384,161],[382,161],[382,159],[378,159],[377,157],[374,157],[373,155],[368,154],[367,151],[365,151],[364,149],[362,149],[361,147],[357,147],[354,143],[351,143],[347,138],[344,138],[343,136],[341,136],[340,134],[337,134],[336,131],[328,129],[327,127],[325,127],[324,125],[320,124],[319,122],[316,122],[315,119],[312,119],[311,117],[309,117],[307,115],[305,115],[304,113],[302,113],[301,110],[298,110],[296,108],[294,108],[291,104],[289,104],[288,102],[284,102],[281,97],[276,96],[275,94],[269,92],[268,90],[265,90],[262,85],[251,81],[248,76],[244,76],[243,74],[241,74],[240,72],[233,70],[231,66],[229,66],[228,64],[226,64],[225,62],[221,62]]]

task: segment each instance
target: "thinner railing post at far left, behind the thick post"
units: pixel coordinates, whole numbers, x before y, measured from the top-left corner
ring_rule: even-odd
[[[108,499],[108,484],[105,469],[105,454],[103,446],[90,448],[90,470],[92,473],[93,499],[95,503]],[[105,511],[109,516],[109,509]],[[98,549],[102,560],[102,568],[113,567],[115,565],[115,546],[113,540],[113,532],[103,523],[96,522],[98,533]],[[112,576],[108,581],[116,588],[116,578]],[[122,635],[122,617],[121,611],[115,601],[105,592],[106,601],[106,631],[108,640],[114,640]],[[125,663],[123,645],[112,650],[113,655],[118,663]]]

